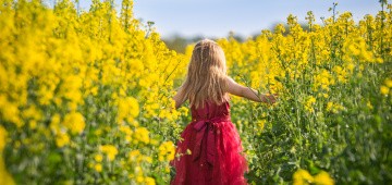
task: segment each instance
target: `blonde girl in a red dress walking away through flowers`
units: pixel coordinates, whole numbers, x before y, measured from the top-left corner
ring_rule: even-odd
[[[273,103],[274,96],[236,84],[226,75],[223,50],[212,40],[199,41],[192,53],[186,81],[174,96],[175,108],[189,100],[192,122],[177,143],[172,185],[246,184],[247,163],[240,135],[230,120],[229,96]],[[191,151],[191,152],[189,152]]]

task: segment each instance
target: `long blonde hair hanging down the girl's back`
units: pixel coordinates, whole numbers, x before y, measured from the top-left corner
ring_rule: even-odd
[[[180,88],[182,101],[189,99],[191,107],[201,108],[205,100],[221,104],[229,99],[224,52],[217,42],[204,39],[196,44],[184,84]]]

